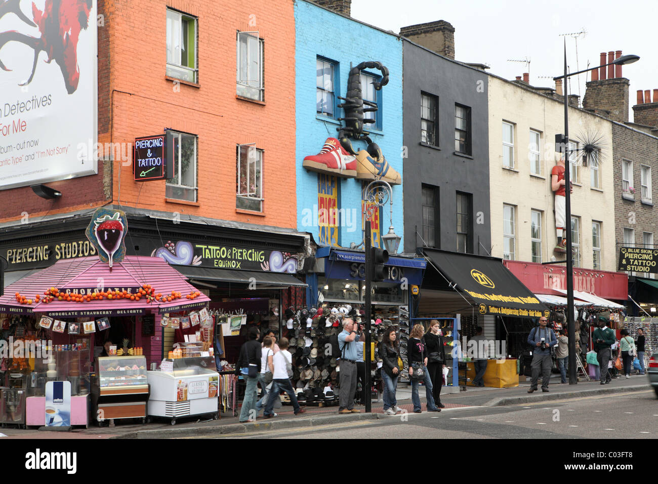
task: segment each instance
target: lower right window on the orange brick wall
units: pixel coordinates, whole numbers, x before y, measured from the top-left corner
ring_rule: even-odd
[[[236,208],[263,211],[263,150],[238,145]]]

